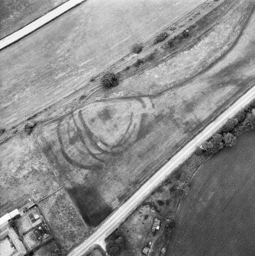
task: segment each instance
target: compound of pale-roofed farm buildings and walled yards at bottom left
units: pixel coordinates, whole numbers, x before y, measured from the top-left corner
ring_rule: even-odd
[[[43,216],[32,201],[0,218],[1,255],[23,256],[52,238]]]

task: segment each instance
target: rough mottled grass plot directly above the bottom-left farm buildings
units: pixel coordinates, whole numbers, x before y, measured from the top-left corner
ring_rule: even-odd
[[[60,187],[40,147],[24,134],[0,146],[0,159],[0,215]]]

